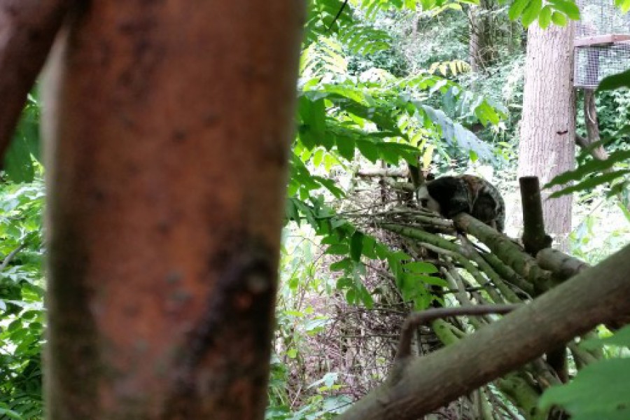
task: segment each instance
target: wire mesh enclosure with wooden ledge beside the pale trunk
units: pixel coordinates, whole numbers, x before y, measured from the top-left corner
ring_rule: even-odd
[[[613,0],[577,0],[573,85],[594,89],[606,76],[630,69],[630,15]]]

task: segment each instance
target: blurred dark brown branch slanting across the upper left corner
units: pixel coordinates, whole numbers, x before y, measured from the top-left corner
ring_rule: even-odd
[[[0,0],[0,158],[72,3]]]

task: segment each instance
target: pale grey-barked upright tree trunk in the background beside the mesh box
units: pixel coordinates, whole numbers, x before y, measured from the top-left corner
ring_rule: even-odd
[[[573,33],[572,23],[528,29],[518,176],[538,176],[543,185],[575,165]],[[542,204],[547,232],[563,247],[572,197],[545,200],[556,189],[542,191]]]

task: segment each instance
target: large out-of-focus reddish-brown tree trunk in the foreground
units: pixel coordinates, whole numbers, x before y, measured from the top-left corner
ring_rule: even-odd
[[[302,2],[78,9],[45,92],[47,419],[262,419]]]

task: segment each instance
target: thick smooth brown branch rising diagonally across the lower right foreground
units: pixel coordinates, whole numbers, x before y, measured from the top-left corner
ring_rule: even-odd
[[[630,246],[461,342],[409,362],[393,386],[375,389],[340,418],[416,419],[629,312],[628,270]]]

